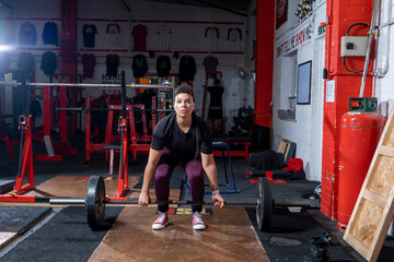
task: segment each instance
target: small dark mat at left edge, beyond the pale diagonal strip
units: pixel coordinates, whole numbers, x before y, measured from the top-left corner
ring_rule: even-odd
[[[50,207],[0,206],[0,231],[23,234],[50,212]]]

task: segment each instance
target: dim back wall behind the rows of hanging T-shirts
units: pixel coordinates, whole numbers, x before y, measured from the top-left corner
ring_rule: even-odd
[[[18,44],[18,35],[19,28],[22,23],[28,20],[19,20],[15,17],[48,17],[48,19],[60,19],[60,0],[35,0],[35,1],[24,1],[24,0],[14,0],[8,1],[11,5],[14,7],[13,12],[3,11],[0,9],[0,17],[14,17],[14,20],[0,20],[0,31],[1,27],[9,26],[10,23],[13,23],[12,34],[13,38],[11,44],[14,47],[21,48]],[[124,70],[126,72],[127,83],[131,83],[135,81],[131,71],[131,58],[135,55],[134,52],[114,52],[114,49],[132,49],[132,36],[131,29],[138,23],[144,24],[148,27],[148,37],[147,37],[147,49],[159,49],[158,44],[158,35],[157,28],[158,25],[162,23],[130,23],[130,20],[155,20],[155,21],[206,21],[211,22],[211,24],[206,23],[171,23],[169,24],[172,28],[171,36],[171,46],[170,50],[178,50],[178,51],[209,51],[207,49],[206,38],[204,37],[205,28],[207,26],[217,26],[219,28],[219,39],[218,39],[218,51],[229,52],[232,51],[232,47],[230,41],[228,40],[228,29],[230,27],[240,27],[242,29],[243,41],[241,43],[240,52],[241,53],[212,53],[215,57],[219,59],[218,70],[223,73],[223,84],[225,92],[223,94],[223,109],[224,109],[224,119],[227,119],[227,130],[233,126],[232,117],[236,115],[239,107],[244,106],[245,104],[245,81],[240,80],[236,76],[236,64],[245,63],[245,39],[250,37],[245,34],[246,28],[246,17],[236,15],[233,13],[229,13],[225,11],[221,11],[218,9],[209,9],[209,8],[198,8],[190,5],[181,5],[181,4],[167,4],[160,3],[154,1],[143,1],[143,0],[127,0],[127,4],[130,7],[131,12],[129,13],[121,1],[106,1],[106,0],[80,0],[78,5],[78,17],[79,19],[92,19],[92,21],[79,21],[78,22],[78,45],[80,55],[85,52],[91,52],[96,56],[96,67],[94,70],[94,79],[85,79],[83,82],[85,83],[102,83],[102,74],[106,71],[105,66],[105,56],[108,53],[117,53],[120,57],[120,67],[118,68],[118,72]],[[97,19],[103,20],[127,20],[127,22],[116,22],[120,25],[121,32],[121,45],[118,47],[114,47],[108,45],[107,35],[105,34],[105,28],[108,21],[100,22],[94,21]],[[42,40],[42,33],[44,28],[44,24],[48,21],[46,20],[34,20],[30,21],[35,24],[37,29],[38,41],[34,48],[26,47],[26,51],[31,51],[35,56],[36,60],[36,82],[48,82],[49,78],[43,73],[39,69],[40,56],[45,51],[45,48],[58,48],[55,46],[44,45]],[[59,33],[60,33],[60,21],[54,21],[58,23]],[[243,25],[237,24],[216,24],[215,22],[242,22]],[[111,22],[112,23],[112,22]],[[82,44],[82,26],[84,24],[94,24],[97,27],[97,34],[95,37],[95,49],[111,49],[108,52],[103,51],[86,51]],[[252,26],[253,28],[253,26]],[[9,45],[10,37],[1,38],[0,34],[0,45]],[[37,50],[37,48],[42,48],[42,50]],[[82,49],[82,50],[81,50]],[[54,49],[55,52],[60,52],[59,49]],[[18,58],[21,50],[11,51],[12,55],[12,63],[11,68],[16,69]],[[179,52],[179,57],[186,55]],[[147,57],[148,52],[143,53]],[[171,58],[172,62],[172,71],[173,73],[178,72],[178,62],[179,60],[172,59],[172,52],[160,53],[157,52],[155,57],[160,55],[167,55]],[[194,88],[196,93],[196,108],[198,110],[201,109],[202,106],[202,84],[205,83],[205,70],[202,66],[204,58],[209,53],[188,53],[193,56],[196,60],[197,64],[197,73],[195,75]],[[58,57],[58,69],[56,72],[60,72],[60,57]],[[149,63],[149,72],[155,73],[155,58],[148,58]],[[79,72],[82,73],[82,64],[79,63]],[[250,88],[246,93],[246,97],[248,100],[253,102],[253,95],[251,94]],[[101,88],[96,90],[85,90],[83,95],[92,95],[96,97],[101,94]],[[128,96],[134,96],[134,91],[128,91]],[[207,102],[209,98],[207,98]],[[248,102],[251,103],[251,102]]]

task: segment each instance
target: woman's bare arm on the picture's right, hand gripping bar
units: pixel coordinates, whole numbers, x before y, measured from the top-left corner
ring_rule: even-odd
[[[210,190],[212,192],[216,191],[216,193],[212,193],[212,200],[220,202],[220,204],[218,205],[220,205],[220,207],[223,207],[224,200],[219,192],[217,167],[215,164],[213,154],[201,153],[201,162],[202,162],[202,168],[207,175]]]

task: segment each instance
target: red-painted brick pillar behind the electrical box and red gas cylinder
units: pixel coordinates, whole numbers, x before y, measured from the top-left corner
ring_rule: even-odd
[[[321,210],[328,217],[337,218],[338,169],[339,169],[339,122],[349,110],[349,97],[358,97],[362,74],[348,72],[340,57],[340,38],[347,28],[358,22],[370,23],[372,0],[327,0],[325,68],[328,80],[335,81],[335,103],[324,103],[323,164]],[[367,36],[368,27],[355,26],[350,35]],[[363,68],[364,58],[348,58],[347,66],[354,70]],[[369,72],[373,69],[373,62]],[[367,78],[364,96],[372,94],[372,76]],[[325,100],[325,99],[324,99]]]

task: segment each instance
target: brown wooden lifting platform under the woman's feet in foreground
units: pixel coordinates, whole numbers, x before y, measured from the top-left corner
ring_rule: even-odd
[[[155,209],[125,207],[89,261],[269,261],[244,209],[212,209],[202,231],[190,214],[169,216],[152,230]]]

